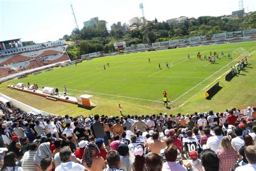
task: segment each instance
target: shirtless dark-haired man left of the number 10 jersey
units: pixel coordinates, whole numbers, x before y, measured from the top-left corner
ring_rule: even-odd
[[[160,149],[166,147],[166,143],[164,141],[159,140],[159,133],[154,132],[152,135],[153,141],[147,142],[146,146],[148,151],[160,154]]]

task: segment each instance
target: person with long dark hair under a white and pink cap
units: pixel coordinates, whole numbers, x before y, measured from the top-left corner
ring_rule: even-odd
[[[134,148],[134,162],[132,164],[133,171],[146,171],[145,165],[145,156],[144,156],[144,146],[142,144],[138,144]]]

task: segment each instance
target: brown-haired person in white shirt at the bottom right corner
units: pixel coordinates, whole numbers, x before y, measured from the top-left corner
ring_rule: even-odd
[[[245,157],[248,165],[240,166],[235,171],[255,171],[256,170],[256,146],[247,146],[245,148]]]

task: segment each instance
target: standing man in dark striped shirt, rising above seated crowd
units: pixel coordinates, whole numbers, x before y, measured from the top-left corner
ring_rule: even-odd
[[[91,125],[92,134],[96,139],[103,138],[106,149],[110,150],[109,140],[107,139],[107,135],[104,131],[103,123],[99,121],[99,115],[94,115],[94,118],[95,122]]]

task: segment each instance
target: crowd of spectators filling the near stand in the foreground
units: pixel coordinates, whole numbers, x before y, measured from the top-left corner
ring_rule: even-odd
[[[256,108],[42,116],[0,103],[1,170],[256,170]],[[4,148],[6,147],[6,148]],[[6,150],[4,150],[6,149]]]

